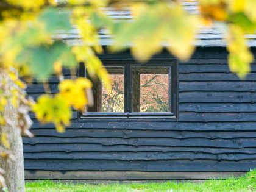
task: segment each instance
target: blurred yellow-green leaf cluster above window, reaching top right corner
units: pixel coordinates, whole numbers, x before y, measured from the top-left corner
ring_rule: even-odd
[[[198,1],[198,14],[183,10],[183,1],[145,2],[123,1],[123,4],[130,5],[133,21],[115,25],[112,49],[120,50],[124,49],[124,45],[130,45],[138,60],[148,60],[166,47],[176,57],[189,59],[194,51],[193,44],[197,41],[194,38],[196,32],[202,26],[218,24],[225,32],[230,71],[240,78],[250,72],[253,55],[245,35],[255,32],[254,0],[201,0]]]

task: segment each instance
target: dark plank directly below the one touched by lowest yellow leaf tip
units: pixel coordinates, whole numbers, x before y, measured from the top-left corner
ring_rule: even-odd
[[[201,146],[201,147],[223,147],[243,148],[255,147],[256,138],[233,138],[233,139],[205,139],[205,138],[58,138],[58,137],[35,137],[33,139],[23,138],[24,144],[63,144],[84,143],[102,144],[103,146],[127,145],[127,146]]]

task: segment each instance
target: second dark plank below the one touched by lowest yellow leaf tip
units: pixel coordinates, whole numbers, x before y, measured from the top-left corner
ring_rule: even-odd
[[[256,148],[213,148],[191,146],[102,146],[101,144],[24,144],[26,152],[203,152],[207,154],[256,154]]]

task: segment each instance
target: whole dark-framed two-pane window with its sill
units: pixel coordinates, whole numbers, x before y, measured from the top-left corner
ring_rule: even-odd
[[[177,62],[102,60],[112,79],[110,91],[93,81],[94,106],[81,118],[177,118]],[[90,78],[85,68],[80,75]]]

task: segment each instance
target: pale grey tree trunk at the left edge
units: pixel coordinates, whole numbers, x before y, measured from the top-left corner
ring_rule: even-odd
[[[8,76],[0,69],[0,82],[7,81],[7,90],[15,86]],[[0,167],[5,170],[4,178],[9,192],[23,192],[25,191],[24,183],[24,162],[23,162],[23,142],[21,138],[21,130],[17,125],[17,112],[14,107],[8,102],[3,116],[7,117],[10,123],[7,126],[1,127],[1,132],[8,135],[10,151],[14,155],[14,160],[0,158]]]

